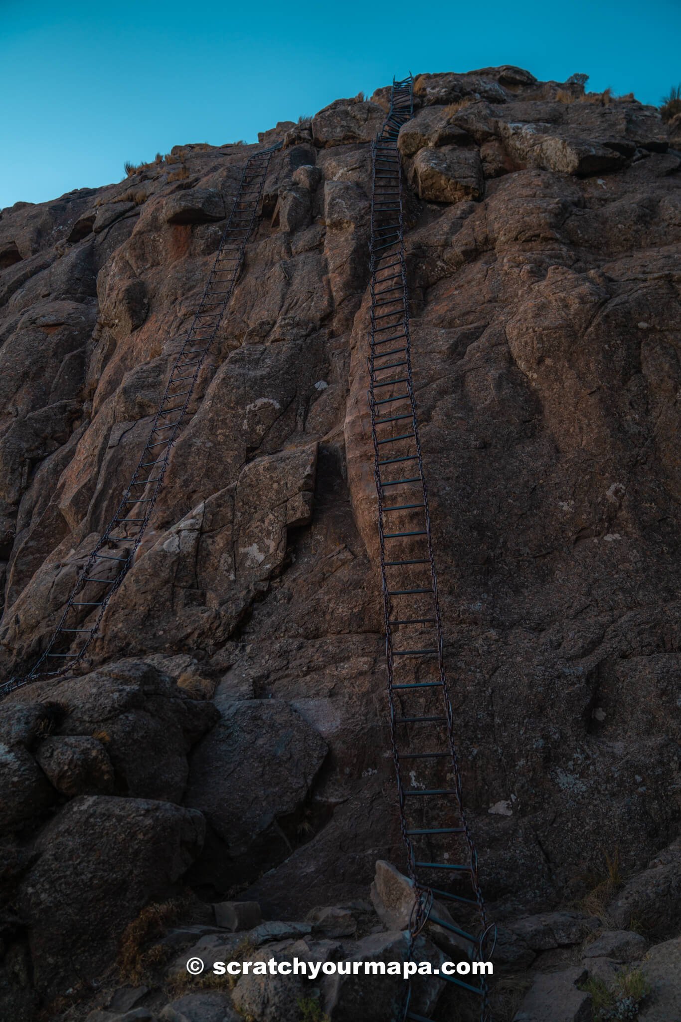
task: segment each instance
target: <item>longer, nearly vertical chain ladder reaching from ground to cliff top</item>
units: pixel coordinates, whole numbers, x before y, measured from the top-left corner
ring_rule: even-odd
[[[471,928],[477,932],[457,926],[453,931],[468,941],[472,958],[484,960],[485,954],[490,954],[488,943],[493,928],[487,924],[477,853],[463,803],[411,373],[402,168],[397,148],[399,129],[411,115],[409,76],[393,82],[390,111],[372,150],[368,398],[378,495],[390,737],[400,829],[416,894],[409,921],[409,957],[414,957],[416,939],[429,918],[436,918],[433,912],[436,898],[450,900],[473,915],[476,922]],[[424,639],[424,635],[428,638]],[[410,736],[411,732],[415,734]],[[441,782],[434,778],[438,764],[444,766]],[[452,822],[455,826],[450,826]],[[450,857],[446,851],[451,847],[449,835],[463,849],[459,860],[456,854]],[[442,847],[444,841],[446,845]],[[432,849],[438,843],[440,848],[435,852]],[[455,884],[450,883],[452,878],[459,877],[468,878],[472,897],[463,896]],[[454,890],[450,889],[452,886]],[[452,929],[452,924],[446,921],[439,920],[439,924]],[[481,995],[480,1017],[487,1022],[489,996],[484,977],[472,983],[445,978]],[[423,1020],[423,1016],[409,1010],[410,982],[407,987],[403,1018]]]

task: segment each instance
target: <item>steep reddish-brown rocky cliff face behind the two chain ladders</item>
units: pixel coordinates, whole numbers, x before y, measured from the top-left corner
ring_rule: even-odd
[[[366,399],[386,100],[262,133],[284,145],[135,564],[84,673],[0,707],[17,1022],[32,975],[70,983],[64,934],[93,979],[180,883],[286,922],[343,916],[377,858],[404,870]],[[399,138],[466,801],[506,962],[562,974],[590,928],[563,907],[603,853],[627,878],[611,929],[678,917],[678,146],[631,97],[509,65],[419,76]],[[3,681],[117,506],[251,151],[183,147],[0,215]]]

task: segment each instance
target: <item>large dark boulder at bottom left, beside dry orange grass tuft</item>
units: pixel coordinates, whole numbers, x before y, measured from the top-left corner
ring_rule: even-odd
[[[74,799],[41,834],[19,891],[38,988],[107,968],[123,927],[180,880],[203,832],[199,812],[166,802]]]

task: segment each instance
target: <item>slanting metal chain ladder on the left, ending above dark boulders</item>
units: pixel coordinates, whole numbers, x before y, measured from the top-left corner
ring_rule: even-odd
[[[38,678],[58,677],[75,667],[97,634],[108,602],[128,573],[151,518],[171,451],[183,420],[187,419],[199,373],[232,298],[246,244],[259,217],[270,159],[279,148],[281,142],[253,153],[244,165],[215,260],[175,358],[133,476],[113,517],[79,572],[47,647],[26,676],[12,678],[0,687],[0,696]],[[92,587],[97,588],[94,594]],[[99,609],[94,621],[82,626],[95,608]],[[71,637],[81,638],[78,648],[71,649]]]

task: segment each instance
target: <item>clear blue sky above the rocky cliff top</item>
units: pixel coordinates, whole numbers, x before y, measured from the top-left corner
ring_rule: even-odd
[[[680,0],[0,0],[0,207],[118,181],[126,159],[244,138],[411,71],[513,63],[658,103]]]

